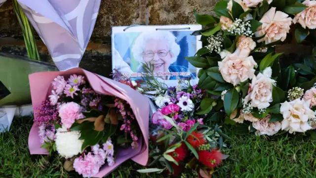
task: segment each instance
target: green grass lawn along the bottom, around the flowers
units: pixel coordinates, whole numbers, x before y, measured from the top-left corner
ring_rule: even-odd
[[[0,178],[76,178],[63,170],[62,158],[30,155],[28,136],[32,118],[15,118],[11,131],[0,134]],[[279,135],[258,137],[235,135],[223,152],[224,160],[214,177],[219,178],[316,178],[316,141]],[[142,167],[124,163],[109,178],[163,178],[162,175],[140,175]],[[165,178],[165,177],[164,177]]]

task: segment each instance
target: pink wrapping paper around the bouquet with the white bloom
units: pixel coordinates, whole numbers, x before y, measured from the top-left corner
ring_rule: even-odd
[[[40,107],[41,102],[47,98],[47,92],[51,87],[51,82],[58,75],[66,78],[72,74],[84,75],[89,81],[92,89],[106,95],[117,96],[127,101],[138,121],[142,132],[142,138],[139,139],[139,147],[137,149],[124,149],[118,152],[114,166],[103,166],[95,178],[102,178],[115,170],[121,163],[128,159],[132,159],[136,163],[145,166],[148,161],[148,125],[149,125],[149,102],[145,96],[130,87],[118,83],[114,80],[99,76],[81,68],[73,68],[63,72],[38,72],[29,75],[30,89],[33,107]],[[34,110],[34,115],[38,113]],[[29,149],[31,154],[48,154],[46,149],[40,148],[39,126],[35,122],[29,134]]]

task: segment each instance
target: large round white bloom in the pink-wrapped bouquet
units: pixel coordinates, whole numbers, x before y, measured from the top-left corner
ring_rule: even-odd
[[[71,158],[81,153],[83,140],[79,140],[79,131],[68,132],[65,127],[57,129],[55,134],[56,149],[58,153],[65,158]]]

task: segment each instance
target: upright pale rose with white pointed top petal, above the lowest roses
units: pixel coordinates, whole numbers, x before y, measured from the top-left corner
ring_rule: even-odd
[[[266,75],[264,75],[266,74]],[[271,79],[272,69],[267,67],[263,74],[259,73],[253,77],[249,86],[248,95],[245,97],[245,103],[251,101],[252,107],[264,109],[270,106],[272,99],[272,88],[276,81]]]

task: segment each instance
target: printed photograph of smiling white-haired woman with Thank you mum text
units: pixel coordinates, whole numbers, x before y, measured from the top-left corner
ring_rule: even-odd
[[[126,77],[142,77],[152,67],[154,76],[162,80],[196,78],[197,69],[185,57],[197,52],[197,37],[193,31],[146,31],[116,33],[113,68]]]

